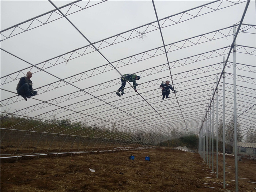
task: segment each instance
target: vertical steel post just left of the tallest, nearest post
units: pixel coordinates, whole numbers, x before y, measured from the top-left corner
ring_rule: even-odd
[[[225,67],[225,57],[223,57],[223,68]],[[226,189],[226,166],[225,166],[225,68],[223,69],[223,120],[222,120],[222,132],[223,132],[223,189]]]

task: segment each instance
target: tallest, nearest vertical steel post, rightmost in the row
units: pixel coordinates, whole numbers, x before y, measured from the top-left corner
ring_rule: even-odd
[[[236,27],[233,27],[234,37]],[[233,87],[234,87],[234,145],[235,145],[235,173],[236,173],[236,192],[238,192],[238,165],[237,165],[237,83],[236,83],[236,41],[233,47]]]

